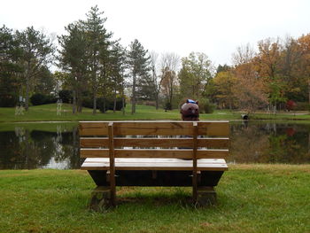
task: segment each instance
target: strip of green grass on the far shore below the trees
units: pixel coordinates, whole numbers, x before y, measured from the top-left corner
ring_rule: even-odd
[[[62,113],[57,115],[57,105],[31,106],[24,115],[15,115],[15,108],[0,108],[0,122],[22,122],[22,121],[79,121],[79,120],[181,120],[178,110],[167,111],[156,110],[153,106],[137,105],[136,114],[130,113],[131,105],[127,105],[126,114],[121,112],[92,114],[92,109],[84,108],[82,113],[71,113],[71,105],[64,104]],[[256,113],[251,119],[263,120],[310,120],[310,115],[304,113]],[[201,120],[241,120],[240,112],[230,112],[228,110],[216,110],[212,114],[200,114]]]

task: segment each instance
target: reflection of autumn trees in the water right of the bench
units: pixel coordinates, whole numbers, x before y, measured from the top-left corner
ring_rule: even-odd
[[[309,149],[309,126],[275,123],[231,126],[230,161],[309,163]]]

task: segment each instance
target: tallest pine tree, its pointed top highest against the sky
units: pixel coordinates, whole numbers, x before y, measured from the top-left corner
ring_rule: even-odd
[[[99,69],[105,68],[100,65],[100,60],[103,56],[100,54],[107,54],[109,46],[111,44],[110,39],[112,33],[107,33],[105,29],[106,18],[101,18],[104,12],[99,12],[97,5],[91,7],[87,14],[87,19],[81,20],[81,27],[85,33],[85,39],[87,42],[87,59],[88,59],[88,75],[89,75],[89,87],[93,95],[93,114],[97,112],[97,92],[99,84],[101,82]],[[108,55],[105,56],[108,58]]]

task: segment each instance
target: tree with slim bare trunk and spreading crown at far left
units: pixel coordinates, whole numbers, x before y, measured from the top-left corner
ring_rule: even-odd
[[[52,62],[54,45],[42,32],[36,31],[34,27],[16,32],[19,48],[22,50],[20,63],[23,66],[23,78],[26,84],[26,105],[29,106],[29,93],[34,79],[40,74],[42,66],[48,66]]]

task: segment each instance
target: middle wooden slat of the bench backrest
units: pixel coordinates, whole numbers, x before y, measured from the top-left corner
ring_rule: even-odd
[[[107,147],[109,139],[104,137],[82,137],[80,145],[84,148]],[[115,147],[192,147],[190,138],[114,138]],[[229,138],[198,138],[198,147],[227,148]]]

